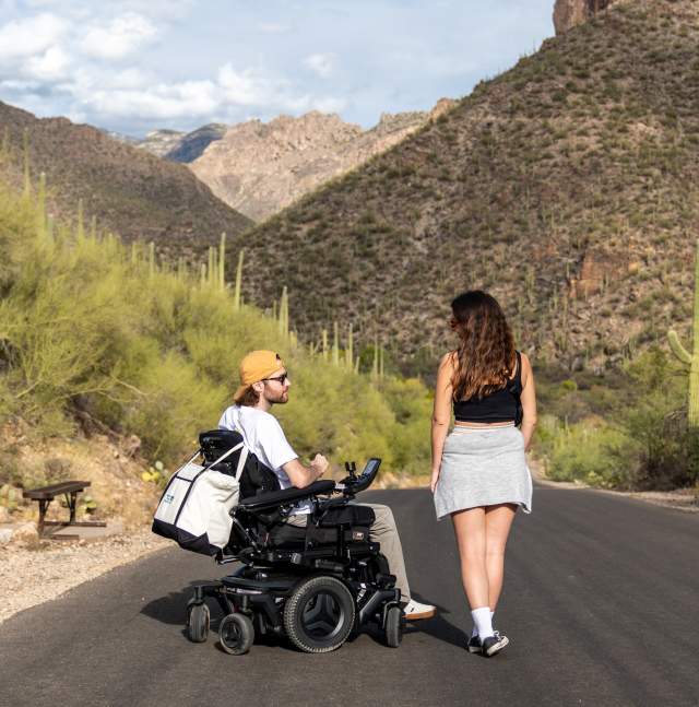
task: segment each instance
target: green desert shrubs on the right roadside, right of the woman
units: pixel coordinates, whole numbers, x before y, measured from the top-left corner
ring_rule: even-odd
[[[687,426],[687,372],[652,346],[608,382],[613,389],[542,385],[548,403],[542,408],[549,414],[542,416],[536,440],[547,474],[619,488],[696,483],[699,431]]]

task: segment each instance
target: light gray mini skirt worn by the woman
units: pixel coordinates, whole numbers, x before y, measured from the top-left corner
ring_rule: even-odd
[[[532,476],[522,433],[514,426],[454,427],[445,440],[435,488],[437,519],[508,503],[532,511]]]

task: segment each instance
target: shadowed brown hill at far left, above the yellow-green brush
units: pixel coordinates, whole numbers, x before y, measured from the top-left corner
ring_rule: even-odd
[[[24,141],[34,178],[44,172],[52,210],[85,216],[126,240],[155,240],[158,251],[199,257],[225,232],[234,237],[250,221],[220,201],[183,165],[165,162],[103,131],[66,118],[37,119],[0,102],[0,164],[5,178],[21,179]]]

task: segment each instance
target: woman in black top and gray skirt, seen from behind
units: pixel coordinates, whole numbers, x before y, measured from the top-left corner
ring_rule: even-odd
[[[517,509],[532,508],[524,450],[536,424],[534,376],[494,297],[465,292],[451,309],[459,346],[442,357],[437,374],[430,485],[437,518],[451,516],[454,523],[474,623],[469,651],[495,656],[509,644],[493,628],[505,545]]]

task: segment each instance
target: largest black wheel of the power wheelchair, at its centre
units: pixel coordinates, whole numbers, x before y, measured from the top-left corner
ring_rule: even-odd
[[[289,640],[307,653],[340,648],[354,628],[352,592],[334,577],[310,577],[300,582],[284,606]]]

